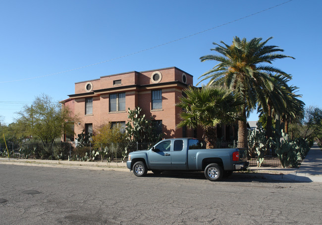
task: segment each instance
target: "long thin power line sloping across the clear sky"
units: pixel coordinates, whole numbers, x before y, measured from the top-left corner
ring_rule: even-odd
[[[132,56],[132,55],[135,55],[135,54],[138,54],[138,53],[141,53],[141,52],[146,52],[146,51],[149,51],[149,50],[152,50],[152,49],[155,49],[155,48],[159,48],[161,46],[164,46],[164,45],[167,45],[167,44],[171,44],[173,42],[177,42],[177,41],[181,41],[183,39],[186,39],[186,38],[189,38],[189,37],[192,37],[192,36],[195,36],[195,35],[198,35],[198,34],[201,34],[201,33],[204,33],[204,32],[207,32],[207,31],[210,31],[210,30],[213,30],[213,29],[216,29],[218,27],[222,27],[222,26],[225,26],[227,24],[230,24],[230,23],[234,23],[234,22],[237,22],[239,20],[242,20],[242,19],[246,19],[248,17],[251,17],[253,15],[257,15],[259,13],[262,13],[262,12],[265,12],[265,11],[268,11],[272,8],[276,8],[278,6],[281,6],[283,4],[286,4],[290,1],[293,1],[293,0],[288,0],[288,1],[285,1],[285,2],[282,2],[280,4],[276,4],[272,7],[269,7],[269,8],[266,8],[264,10],[261,10],[261,11],[258,11],[258,12],[255,12],[253,14],[250,14],[250,15],[247,15],[247,16],[244,16],[244,17],[240,17],[238,19],[235,19],[235,20],[232,20],[232,21],[229,21],[229,22],[226,22],[226,23],[223,23],[221,25],[218,25],[218,26],[215,26],[215,27],[212,27],[212,28],[209,28],[209,29],[206,29],[206,30],[203,30],[203,31],[200,31],[200,32],[197,32],[197,33],[194,33],[194,34],[190,34],[188,36],[185,36],[185,37],[182,37],[182,38],[178,38],[178,39],[175,39],[175,40],[172,40],[172,41],[169,41],[169,42],[166,42],[166,43],[163,43],[163,44],[160,44],[160,45],[156,45],[154,47],[151,47],[151,48],[147,48],[147,49],[144,49],[144,50],[141,50],[141,51],[137,51],[137,52],[133,52],[133,53],[130,53],[130,54],[127,54],[127,55],[123,55],[123,56],[120,56],[120,57],[116,57],[116,58],[113,58],[113,59],[110,59],[110,60],[105,60],[105,61],[102,61],[102,62],[99,62],[99,63],[94,63],[94,64],[90,64],[90,65],[86,65],[86,66],[83,66],[83,67],[78,67],[78,68],[74,68],[74,69],[70,69],[70,70],[66,70],[66,71],[62,71],[62,72],[58,72],[58,73],[54,73],[54,74],[48,74],[48,75],[42,75],[42,76],[35,76],[35,77],[29,77],[29,78],[24,78],[24,79],[17,79],[17,80],[9,80],[9,81],[0,81],[0,83],[9,83],[9,82],[16,82],[16,81],[23,81],[23,80],[28,80],[28,79],[36,79],[36,78],[42,78],[42,77],[46,77],[46,76],[52,76],[52,75],[60,75],[60,74],[64,74],[64,73],[67,73],[67,72],[71,72],[71,71],[76,71],[76,70],[80,70],[80,69],[84,69],[84,68],[87,68],[87,67],[92,67],[92,66],[96,66],[96,65],[99,65],[99,64],[102,64],[102,63],[107,63],[107,62],[110,62],[110,61],[114,61],[114,60],[118,60],[118,59],[122,59],[122,58],[125,58],[125,57],[128,57],[128,56]]]

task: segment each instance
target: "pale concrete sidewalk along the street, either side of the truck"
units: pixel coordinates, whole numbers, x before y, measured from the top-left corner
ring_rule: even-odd
[[[15,159],[0,158],[0,164],[17,164],[30,166],[49,166],[96,170],[130,170],[126,162],[83,162],[67,160],[41,160],[41,159]],[[299,168],[277,168],[277,167],[249,167],[247,175],[269,180],[299,181],[299,182],[322,182],[322,150],[314,144]]]

